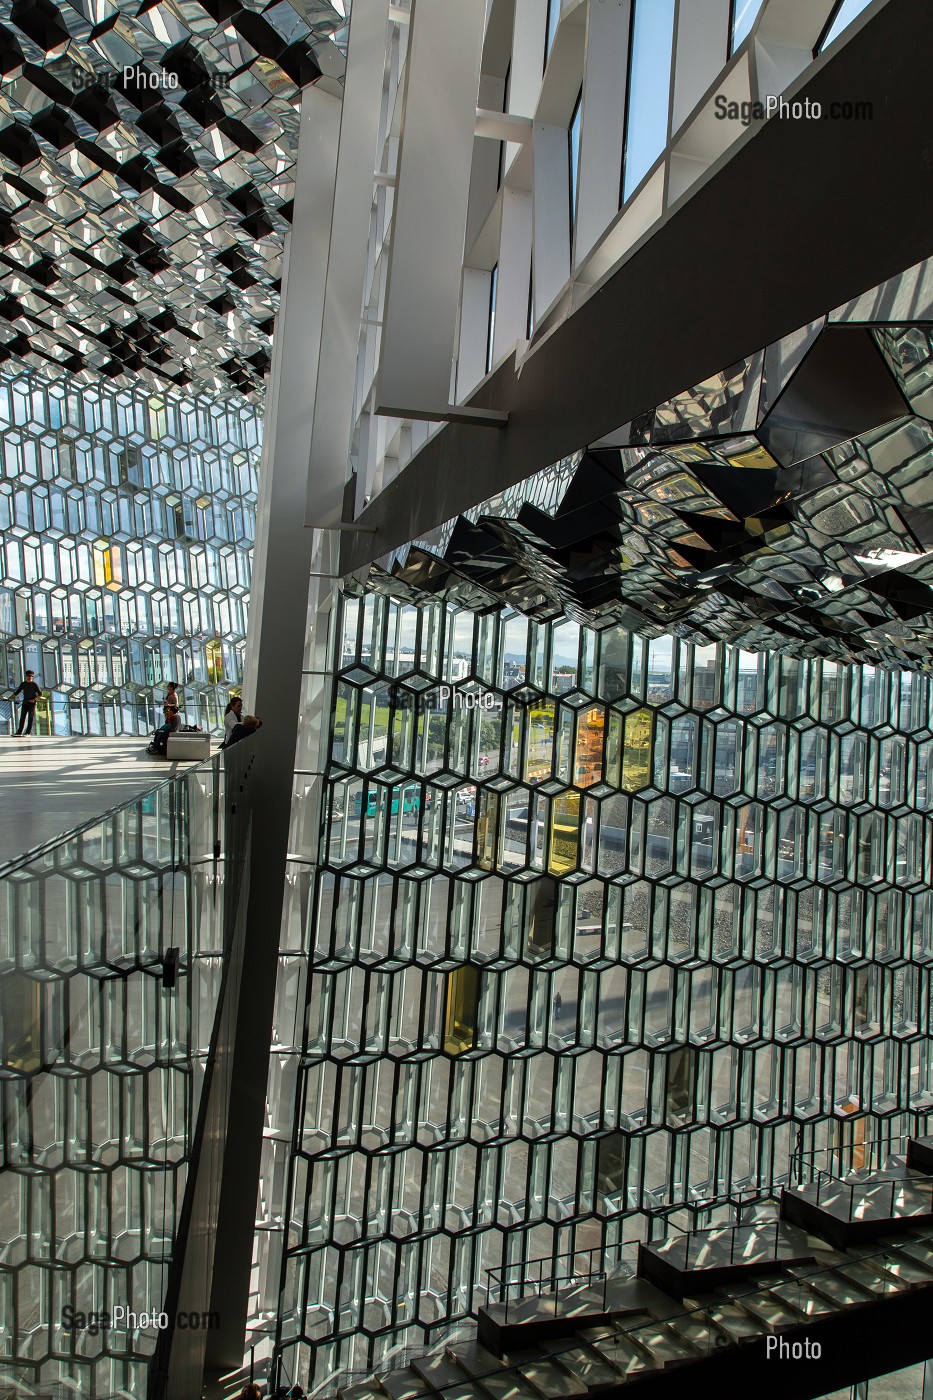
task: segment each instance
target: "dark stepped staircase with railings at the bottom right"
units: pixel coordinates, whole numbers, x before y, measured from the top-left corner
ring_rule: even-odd
[[[906,1159],[874,1175],[822,1176],[785,1190],[770,1219],[643,1245],[636,1277],[621,1271],[489,1305],[479,1312],[476,1340],[336,1389],[336,1400],[560,1400],[605,1396],[636,1379],[649,1400],[698,1382],[728,1387],[737,1378],[765,1400],[780,1396],[775,1368],[752,1376],[748,1365],[763,1362],[769,1337],[842,1336],[843,1345],[828,1348],[835,1372],[824,1375],[822,1362],[807,1366],[806,1385],[817,1389],[800,1396],[818,1396],[835,1389],[836,1375],[850,1383],[877,1373],[864,1369],[860,1345],[876,1327],[891,1338],[888,1369],[908,1364],[904,1347],[913,1348],[913,1359],[926,1348],[933,1355],[933,1331],[923,1324],[933,1306],[933,1175],[920,1170],[925,1151],[933,1173],[933,1140],[913,1140]],[[679,1375],[671,1389],[672,1369],[700,1362],[709,1366],[702,1379]]]

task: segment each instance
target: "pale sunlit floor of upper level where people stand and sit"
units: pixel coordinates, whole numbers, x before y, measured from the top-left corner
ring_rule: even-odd
[[[0,738],[0,868],[192,766],[150,757],[146,742]]]

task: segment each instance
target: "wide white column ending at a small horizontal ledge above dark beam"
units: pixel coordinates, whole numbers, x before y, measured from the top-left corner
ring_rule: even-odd
[[[380,413],[450,416],[485,0],[415,0],[385,293]]]

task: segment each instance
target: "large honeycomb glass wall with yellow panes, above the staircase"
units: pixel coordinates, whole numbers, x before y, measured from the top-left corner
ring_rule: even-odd
[[[927,675],[352,582],[336,615],[273,1047],[284,1376],[925,1131]]]

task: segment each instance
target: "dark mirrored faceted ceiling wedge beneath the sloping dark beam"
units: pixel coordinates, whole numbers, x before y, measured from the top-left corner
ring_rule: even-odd
[[[932,417],[929,325],[818,322],[382,559],[368,582],[929,669]]]

